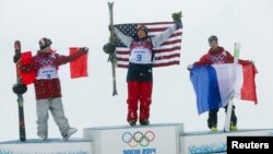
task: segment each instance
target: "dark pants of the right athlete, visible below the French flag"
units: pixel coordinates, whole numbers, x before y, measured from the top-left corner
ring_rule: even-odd
[[[224,107],[225,112],[227,111],[227,105]],[[211,109],[209,111],[209,119],[207,119],[207,127],[217,127],[217,112],[218,109]],[[233,105],[233,110],[232,110],[232,117],[230,117],[230,125],[236,126],[237,125],[237,117],[235,115],[235,106]]]

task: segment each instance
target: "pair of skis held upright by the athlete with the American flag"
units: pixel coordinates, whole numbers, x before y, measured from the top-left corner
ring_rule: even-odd
[[[112,7],[114,2],[108,2],[108,8],[109,8],[109,19],[110,19],[110,38],[109,43],[112,45],[114,44],[114,17],[112,17]],[[116,82],[116,66],[117,66],[117,59],[116,59],[116,54],[115,51],[109,54],[109,60],[111,62],[111,74],[112,74],[112,96],[118,95],[117,92],[117,82]]]

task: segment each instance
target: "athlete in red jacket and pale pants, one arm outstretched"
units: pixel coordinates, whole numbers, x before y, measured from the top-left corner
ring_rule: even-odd
[[[64,116],[58,67],[75,60],[88,50],[87,48],[82,48],[80,52],[72,56],[62,56],[52,51],[50,48],[51,44],[50,39],[41,38],[39,40],[40,50],[32,58],[31,63],[22,66],[22,71],[29,72],[34,70],[36,72],[34,87],[36,94],[38,137],[41,140],[47,140],[48,110],[50,110],[62,138],[68,140],[76,132],[76,129],[69,126],[68,119]]]

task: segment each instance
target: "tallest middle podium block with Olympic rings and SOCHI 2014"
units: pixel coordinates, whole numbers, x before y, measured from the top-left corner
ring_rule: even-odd
[[[95,154],[180,154],[182,133],[182,123],[164,123],[86,128],[83,138],[94,141]]]

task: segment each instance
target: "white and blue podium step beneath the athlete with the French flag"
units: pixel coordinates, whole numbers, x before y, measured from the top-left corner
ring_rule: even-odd
[[[181,154],[226,153],[227,137],[271,137],[273,129],[245,129],[233,132],[188,132],[180,137]]]

